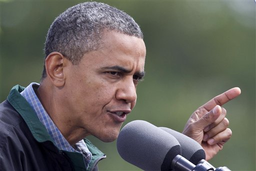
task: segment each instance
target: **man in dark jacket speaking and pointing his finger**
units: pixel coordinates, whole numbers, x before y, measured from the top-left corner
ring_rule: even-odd
[[[105,155],[83,138],[117,138],[144,75],[142,38],[129,15],[103,3],[60,14],[48,30],[40,84],[16,85],[0,104],[1,169],[96,170]],[[183,133],[203,146],[206,159],[230,138],[220,106],[239,94],[232,88],[188,119]]]

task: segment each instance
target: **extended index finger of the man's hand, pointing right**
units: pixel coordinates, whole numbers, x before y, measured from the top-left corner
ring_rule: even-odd
[[[215,96],[214,98],[203,104],[201,107],[205,108],[207,111],[210,111],[214,106],[221,106],[226,102],[230,101],[231,99],[237,97],[240,93],[241,90],[239,87],[233,87],[223,92],[222,94]]]

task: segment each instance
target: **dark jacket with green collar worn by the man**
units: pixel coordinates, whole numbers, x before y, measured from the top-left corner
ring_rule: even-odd
[[[82,154],[58,149],[35,111],[14,86],[0,104],[1,170],[86,170]],[[97,170],[106,156],[84,139],[92,154],[87,170]]]

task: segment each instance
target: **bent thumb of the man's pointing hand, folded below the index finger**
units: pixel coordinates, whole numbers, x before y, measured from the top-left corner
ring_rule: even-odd
[[[196,121],[197,127],[204,129],[209,124],[213,123],[221,114],[221,107],[216,105],[209,112],[205,113],[199,120]]]

